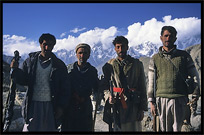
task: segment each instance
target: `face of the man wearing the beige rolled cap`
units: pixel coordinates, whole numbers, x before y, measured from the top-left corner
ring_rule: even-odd
[[[76,56],[77,56],[77,59],[78,59],[78,62],[83,64],[83,63],[86,63],[87,60],[89,59],[89,51],[87,48],[79,48],[76,52]]]

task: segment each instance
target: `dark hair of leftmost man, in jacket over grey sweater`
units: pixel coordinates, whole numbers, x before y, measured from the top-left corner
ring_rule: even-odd
[[[55,36],[53,36],[50,33],[43,33],[39,38],[39,43],[42,44],[43,40],[49,42],[49,44],[51,44],[53,46],[56,44]]]

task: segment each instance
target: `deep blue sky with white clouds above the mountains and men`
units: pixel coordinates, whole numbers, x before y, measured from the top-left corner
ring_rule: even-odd
[[[64,45],[67,49],[82,41],[94,44],[100,40],[106,46],[106,40],[111,41],[118,34],[131,39],[131,32],[145,33],[150,27],[152,32],[153,27],[158,28],[159,34],[162,25],[168,24],[199,36],[201,3],[3,3],[3,51],[11,54],[15,49],[11,43],[18,44],[17,49],[25,49],[27,43],[31,45],[28,51],[33,50],[42,33],[55,35],[61,45],[70,43]],[[140,33],[137,37],[143,35]],[[146,39],[136,40],[131,41],[140,43]],[[57,49],[62,49],[61,45]]]

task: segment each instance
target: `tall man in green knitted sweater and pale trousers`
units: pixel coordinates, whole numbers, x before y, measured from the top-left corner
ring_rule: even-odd
[[[163,46],[153,55],[149,64],[148,101],[152,115],[155,115],[156,109],[158,111],[162,132],[181,131],[189,100],[184,81],[188,76],[197,85],[192,99],[197,101],[200,95],[199,76],[194,62],[186,51],[176,48],[176,35],[174,27],[162,27],[160,39]]]

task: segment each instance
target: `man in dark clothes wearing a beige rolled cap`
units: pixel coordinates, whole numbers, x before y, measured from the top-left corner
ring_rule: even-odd
[[[91,48],[88,44],[76,46],[78,61],[67,67],[71,81],[71,103],[63,117],[62,131],[92,131],[92,103],[90,95],[98,90],[98,74],[87,60]]]

